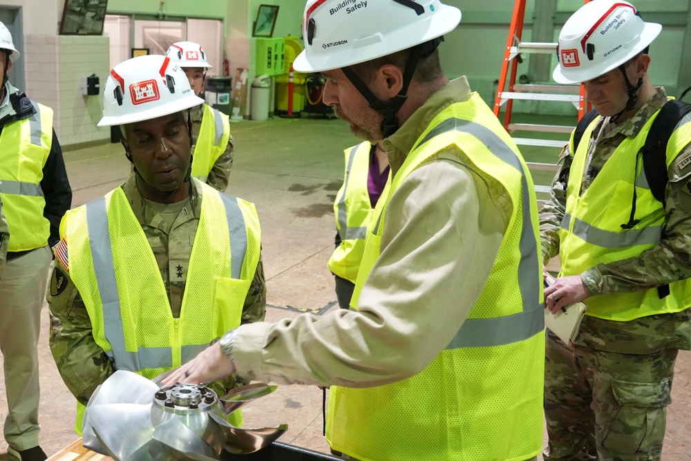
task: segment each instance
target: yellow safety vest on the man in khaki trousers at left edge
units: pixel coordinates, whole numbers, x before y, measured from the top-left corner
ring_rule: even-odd
[[[41,180],[53,144],[53,109],[31,104],[35,114],[7,124],[0,134],[0,196],[10,227],[10,252],[44,247],[50,236]]]

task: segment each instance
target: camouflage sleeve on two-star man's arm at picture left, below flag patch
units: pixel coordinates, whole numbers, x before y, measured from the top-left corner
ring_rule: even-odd
[[[86,405],[97,386],[115,369],[96,344],[84,301],[57,259],[46,299],[50,308],[50,352],[67,388]]]

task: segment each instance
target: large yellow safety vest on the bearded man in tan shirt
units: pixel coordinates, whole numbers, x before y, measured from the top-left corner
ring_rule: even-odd
[[[331,388],[327,439],[363,461],[527,460],[542,446],[537,202],[518,149],[477,93],[435,117],[392,179],[386,200],[377,203],[379,222],[368,233],[351,305],[379,257],[388,200],[438,152],[455,153],[511,197],[513,216],[499,254],[468,319],[421,373],[386,386]]]

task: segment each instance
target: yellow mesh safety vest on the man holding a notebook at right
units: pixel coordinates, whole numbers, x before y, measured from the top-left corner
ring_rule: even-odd
[[[636,138],[627,137],[619,144],[585,194],[581,195],[589,144],[593,142],[591,135],[600,117],[583,133],[569,172],[566,213],[559,232],[561,276],[580,275],[598,264],[640,256],[660,242],[665,210],[650,191],[639,153],[656,116],[657,113],[650,117]],[[682,119],[667,144],[668,167],[690,140],[691,122]],[[573,133],[569,147],[574,147]],[[629,222],[634,187],[634,218],[640,222],[631,229],[623,229],[621,225]],[[691,305],[691,281],[670,283],[670,294],[663,299],[657,290],[651,289],[600,294],[583,302],[588,306],[587,315],[616,321],[680,312]]]

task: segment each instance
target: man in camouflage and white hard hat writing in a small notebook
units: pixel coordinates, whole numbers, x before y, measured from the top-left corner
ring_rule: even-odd
[[[597,0],[559,35],[553,78],[583,82],[598,116],[564,148],[540,214],[543,260],[561,263],[548,308],[587,304],[574,348],[547,335],[546,460],[659,460],[674,361],[691,349],[691,117],[647,139],[676,105],[647,75],[660,31]],[[662,146],[659,174],[647,142]]]

